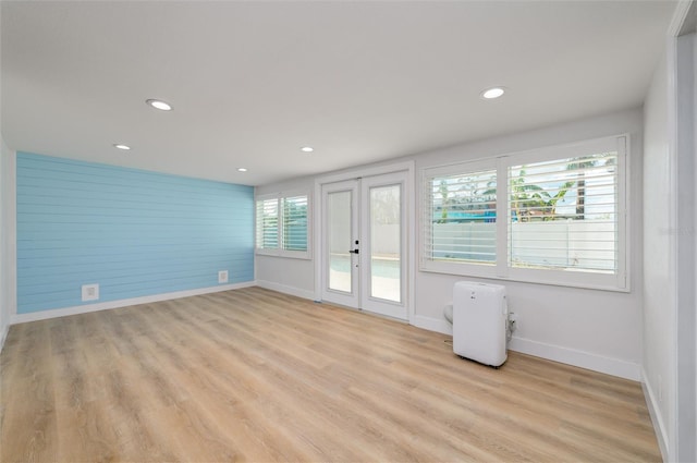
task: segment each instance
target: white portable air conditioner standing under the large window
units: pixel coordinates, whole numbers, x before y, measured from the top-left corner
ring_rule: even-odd
[[[494,367],[506,354],[505,287],[458,281],[453,288],[453,352]]]

